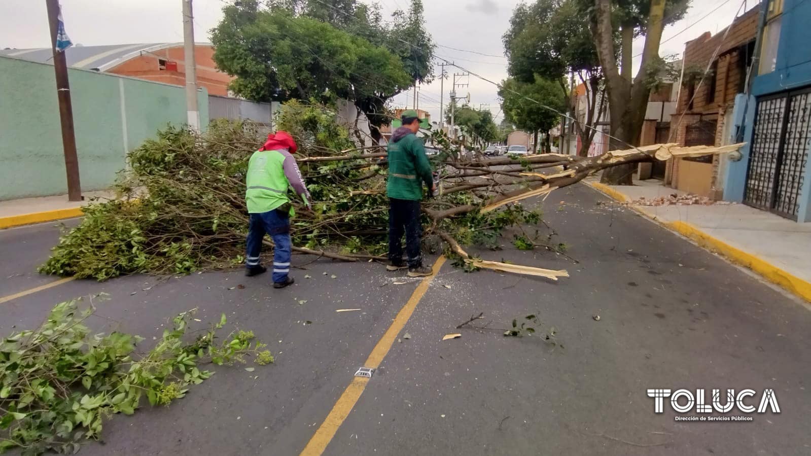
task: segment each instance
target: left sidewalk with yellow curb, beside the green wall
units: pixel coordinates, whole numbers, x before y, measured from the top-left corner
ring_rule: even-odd
[[[0,201],[0,230],[13,226],[80,217],[82,206],[90,204],[92,198],[114,198],[114,193],[107,190],[83,191],[82,195],[84,195],[84,201],[68,201],[67,195]]]

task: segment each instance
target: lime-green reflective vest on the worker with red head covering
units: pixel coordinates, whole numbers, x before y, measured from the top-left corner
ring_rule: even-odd
[[[276,150],[260,150],[251,155],[245,179],[248,213],[265,213],[290,201],[285,176],[285,156]],[[293,209],[290,209],[293,215]]]

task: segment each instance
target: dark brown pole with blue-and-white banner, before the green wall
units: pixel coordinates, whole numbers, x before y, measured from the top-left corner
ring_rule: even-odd
[[[48,8],[48,25],[51,32],[51,50],[54,52],[54,71],[59,101],[59,122],[62,123],[62,149],[65,153],[67,172],[67,200],[81,201],[82,186],[79,183],[79,158],[76,157],[76,136],[73,131],[73,107],[71,106],[71,84],[67,80],[65,51],[56,49],[59,26],[58,0],[45,0]]]

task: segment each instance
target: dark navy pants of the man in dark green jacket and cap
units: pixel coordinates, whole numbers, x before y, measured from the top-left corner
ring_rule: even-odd
[[[419,237],[423,234],[419,214],[419,201],[388,199],[388,259],[395,265],[402,263],[403,233],[408,266],[417,268],[423,264],[423,256],[419,252]]]

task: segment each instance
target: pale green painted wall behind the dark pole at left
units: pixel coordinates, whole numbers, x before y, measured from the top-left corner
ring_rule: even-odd
[[[127,151],[187,122],[182,87],[70,69],[82,190],[109,187]],[[208,125],[208,93],[198,92]],[[126,144],[125,144],[126,142]],[[0,200],[67,193],[54,67],[0,57]]]

